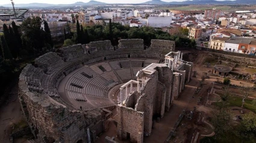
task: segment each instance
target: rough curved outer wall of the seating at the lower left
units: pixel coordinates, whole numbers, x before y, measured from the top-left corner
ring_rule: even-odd
[[[70,111],[45,94],[31,92],[23,75],[20,75],[19,99],[31,131],[40,142],[76,142],[80,139],[87,142],[87,127],[104,120],[104,112],[99,109]]]

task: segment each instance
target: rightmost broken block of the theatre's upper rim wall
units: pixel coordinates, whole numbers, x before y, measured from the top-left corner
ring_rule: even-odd
[[[151,47],[158,49],[169,49],[170,51],[175,50],[175,41],[169,40],[151,40]]]

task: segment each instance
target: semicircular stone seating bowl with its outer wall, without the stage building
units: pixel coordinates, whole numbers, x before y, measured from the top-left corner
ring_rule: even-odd
[[[27,64],[19,76],[19,100],[33,135],[41,142],[86,141],[87,127],[105,120],[99,108],[115,106],[108,91],[175,50],[174,41],[163,41],[152,40],[146,49],[142,39],[119,40],[115,48],[109,40],[76,44]]]

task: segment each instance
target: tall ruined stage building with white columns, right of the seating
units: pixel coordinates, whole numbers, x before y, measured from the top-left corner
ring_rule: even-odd
[[[144,135],[151,135],[153,116],[162,118],[164,112],[169,110],[185,83],[190,81],[192,68],[192,62],[183,61],[183,53],[169,52],[165,55],[164,64],[148,65],[138,71],[137,81],[131,80],[121,87],[120,90],[126,92],[120,95],[121,102],[117,105],[119,138],[143,142]],[[124,88],[134,84],[137,90],[127,93]]]

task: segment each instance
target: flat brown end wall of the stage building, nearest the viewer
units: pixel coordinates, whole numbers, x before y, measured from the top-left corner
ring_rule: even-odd
[[[127,139],[130,135],[131,142],[142,143],[144,113],[134,111],[122,105],[116,106],[117,110],[117,136],[120,139]]]

